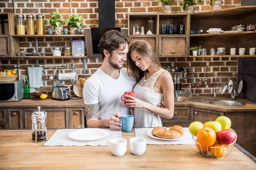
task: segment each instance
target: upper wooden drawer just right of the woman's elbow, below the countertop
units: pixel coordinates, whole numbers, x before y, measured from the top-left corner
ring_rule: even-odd
[[[190,120],[191,119],[191,110],[190,107],[175,107],[174,115],[172,119],[167,119],[161,117],[161,120]]]

